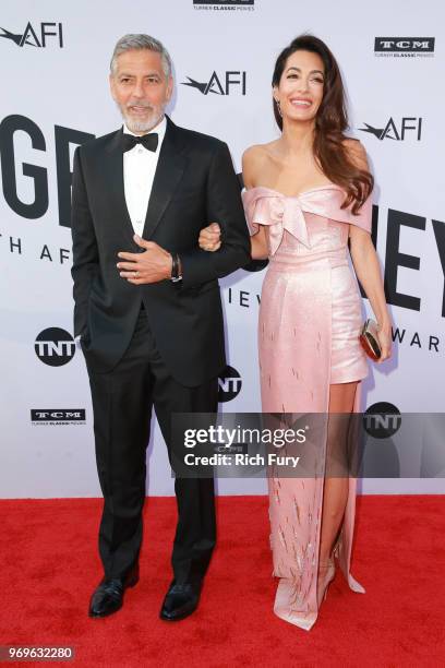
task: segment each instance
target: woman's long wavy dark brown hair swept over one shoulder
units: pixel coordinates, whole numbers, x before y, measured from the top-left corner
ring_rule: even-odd
[[[314,155],[323,174],[346,191],[342,207],[351,206],[357,214],[374,187],[373,176],[357,167],[345,147],[345,130],[348,128],[345,88],[340,70],[333,53],[324,41],[313,35],[300,35],[281,51],[275,63],[272,85],[278,86],[287,59],[296,51],[317,53],[325,68],[322,104],[315,117]],[[274,98],[275,120],[282,130],[282,119]]]

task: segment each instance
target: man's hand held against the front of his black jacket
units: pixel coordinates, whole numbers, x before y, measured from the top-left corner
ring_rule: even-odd
[[[170,253],[154,241],[145,241],[137,235],[133,238],[137,246],[145,250],[141,253],[118,253],[118,257],[125,261],[118,262],[120,276],[133,285],[159,283],[170,278],[172,264]]]

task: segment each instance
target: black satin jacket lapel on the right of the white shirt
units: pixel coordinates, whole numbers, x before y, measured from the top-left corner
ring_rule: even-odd
[[[175,123],[167,117],[167,129],[160,147],[144,225],[144,239],[149,239],[166,211],[185,168],[185,156]]]

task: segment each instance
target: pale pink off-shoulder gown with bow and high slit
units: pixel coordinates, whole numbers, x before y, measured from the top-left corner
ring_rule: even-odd
[[[264,413],[327,414],[332,383],[368,374],[358,338],[361,297],[350,269],[348,235],[349,225],[371,231],[372,203],[369,199],[356,216],[341,208],[344,199],[335,184],[299,196],[262,187],[243,192],[251,232],[260,225],[268,228],[269,264],[258,322]],[[363,593],[350,574],[356,482],[349,478],[336,556],[350,588]],[[268,480],[274,575],[280,578],[274,611],[306,630],[317,617],[323,484],[323,476]]]

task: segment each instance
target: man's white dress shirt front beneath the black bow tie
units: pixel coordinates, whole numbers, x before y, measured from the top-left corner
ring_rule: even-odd
[[[158,145],[155,152],[148,151],[142,144],[134,146],[123,154],[123,190],[125,194],[127,208],[136,235],[142,237],[145,216],[147,214],[148,200],[152,193],[153,180],[159,159],[160,147],[166,134],[167,120],[163,118],[160,123],[151,132],[157,132]],[[125,134],[133,134],[127,126],[123,126]]]

